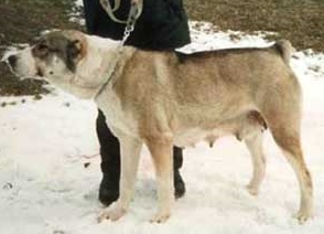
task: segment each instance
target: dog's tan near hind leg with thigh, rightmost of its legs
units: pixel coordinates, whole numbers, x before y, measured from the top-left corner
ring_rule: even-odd
[[[263,103],[263,116],[277,145],[292,166],[300,184],[301,203],[296,217],[304,223],[313,212],[312,178],[306,168],[300,137],[301,94],[299,86],[289,85],[269,94]]]

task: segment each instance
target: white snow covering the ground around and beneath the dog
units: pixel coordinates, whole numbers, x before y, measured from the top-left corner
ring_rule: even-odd
[[[258,35],[213,32],[203,23],[192,33],[187,52],[234,46],[264,46]],[[230,40],[230,34],[240,35]],[[0,233],[2,234],[139,234],[139,233],[304,233],[324,232],[324,54],[296,52],[291,61],[304,93],[302,138],[314,181],[314,219],[299,225],[296,179],[274,145],[264,137],[268,158],[259,196],[245,185],[251,177],[250,156],[234,138],[214,148],[199,143],[184,150],[185,196],[175,202],[165,224],[148,220],[156,208],[153,168],[142,151],[134,198],[118,222],[96,222],[100,182],[96,106],[54,89],[41,100],[0,97]],[[85,163],[89,162],[89,167]]]

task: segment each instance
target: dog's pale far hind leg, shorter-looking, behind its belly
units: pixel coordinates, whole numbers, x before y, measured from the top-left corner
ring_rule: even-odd
[[[262,131],[257,131],[253,136],[245,139],[245,143],[250,151],[253,166],[253,176],[247,185],[252,195],[258,195],[259,187],[266,174],[266,158],[262,149]]]

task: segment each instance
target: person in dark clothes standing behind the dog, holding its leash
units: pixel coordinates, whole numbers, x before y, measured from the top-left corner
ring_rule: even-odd
[[[125,24],[109,18],[99,0],[83,0],[86,28],[89,34],[121,40]],[[111,6],[120,4],[114,12],[116,18],[127,20],[130,4],[137,0],[109,0]],[[182,0],[143,0],[143,10],[134,30],[126,41],[142,50],[174,50],[190,43],[187,17]],[[98,110],[97,136],[100,143],[102,180],[99,201],[109,205],[119,196],[120,149],[118,139],[111,134],[101,110]],[[175,198],[185,193],[185,184],[180,174],[183,163],[182,149],[173,148]]]

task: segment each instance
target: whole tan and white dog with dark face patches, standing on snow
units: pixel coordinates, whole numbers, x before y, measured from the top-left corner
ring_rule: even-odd
[[[312,216],[313,189],[301,148],[301,87],[289,66],[291,45],[233,49],[191,55],[119,50],[119,42],[77,31],[41,38],[8,61],[19,76],[42,76],[80,98],[94,98],[121,147],[120,198],[99,220],[126,214],[134,188],[141,146],[151,151],[164,222],[173,202],[172,146],[235,135],[250,150],[258,193],[264,177],[262,131],[272,136],[300,184],[301,223]]]

